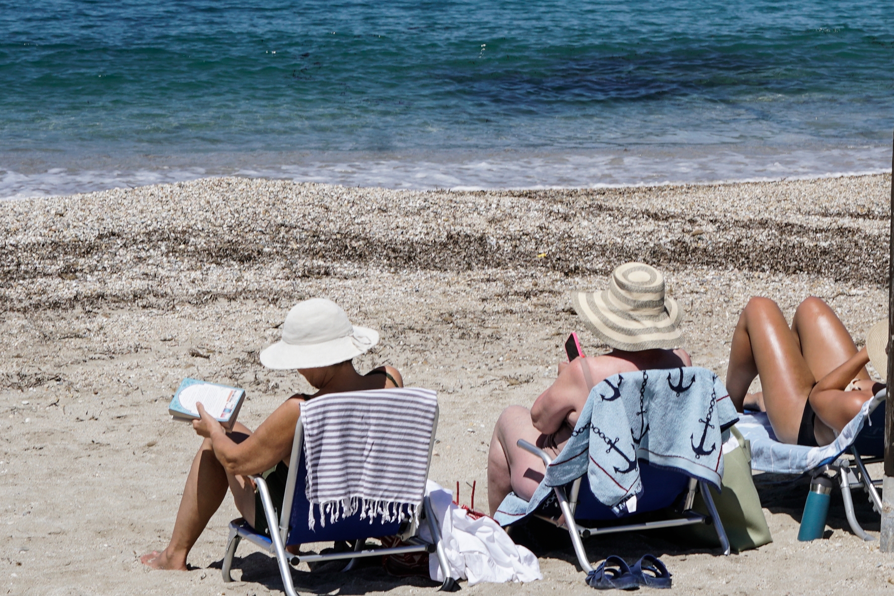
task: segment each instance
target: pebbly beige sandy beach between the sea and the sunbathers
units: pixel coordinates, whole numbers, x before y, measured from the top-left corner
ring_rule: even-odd
[[[249,392],[254,427],[309,387],[258,350],[299,299],[323,296],[382,341],[358,360],[437,390],[431,477],[484,508],[486,451],[504,407],[530,406],[578,331],[572,289],[643,260],[667,274],[693,362],[725,375],[738,312],[754,295],[787,315],[825,299],[857,345],[887,312],[890,174],[624,189],[479,192],[348,189],[205,179],[0,203],[0,593],[281,593],[248,544],[223,583],[224,503],[189,572],[150,572],[200,440],[167,416],[181,379]],[[878,466],[875,466],[878,467]],[[873,470],[873,473],[878,470]],[[833,495],[831,536],[796,540],[804,483],[755,477],[774,542],[730,557],[671,534],[586,542],[591,560],[651,552],[679,594],[894,590],[894,556],[858,540]],[[878,516],[855,492],[857,516]],[[326,545],[309,545],[319,550]],[[568,544],[534,545],[544,581],[469,593],[591,593]],[[301,593],[434,593],[371,562],[293,573]]]

